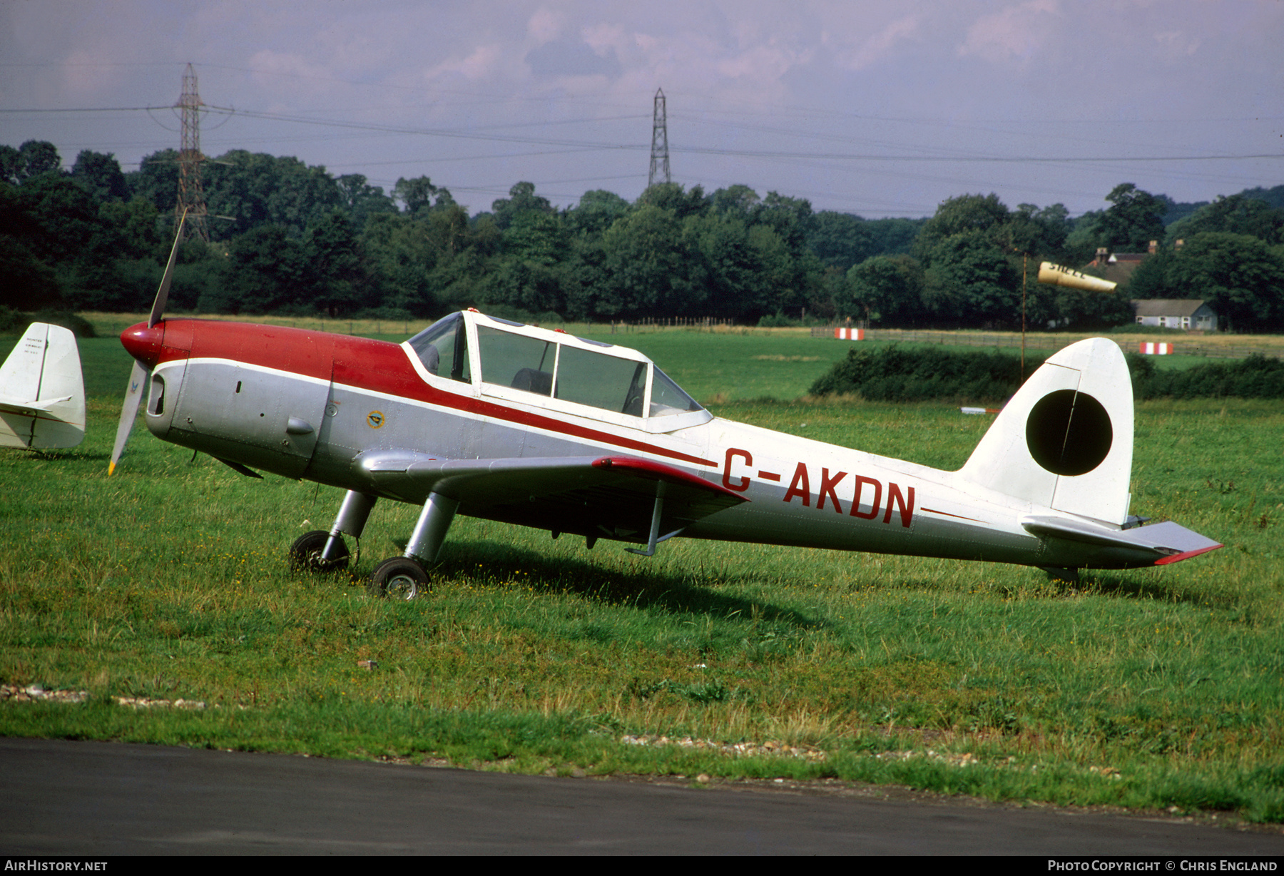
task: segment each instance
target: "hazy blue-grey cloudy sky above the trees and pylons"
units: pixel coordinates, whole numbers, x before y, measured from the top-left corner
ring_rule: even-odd
[[[178,145],[187,63],[207,155],[474,212],[519,180],[637,198],[657,87],[673,181],[867,217],[1284,184],[1280,0],[0,0],[0,143],[136,167]]]

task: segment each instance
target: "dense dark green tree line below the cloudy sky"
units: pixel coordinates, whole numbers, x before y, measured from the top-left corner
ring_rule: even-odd
[[[543,321],[805,317],[877,326],[1086,329],[1129,322],[1129,298],[1212,298],[1236,328],[1284,321],[1284,186],[1193,209],[1131,184],[1072,218],[1063,204],[950,198],[931,217],[813,211],[747,185],[677,184],[628,202],[605,190],[556,208],[517,182],[470,213],[426,176],[390,191],[360,173],[232,150],[202,166],[208,243],[184,241],[177,311],[433,317],[475,306]],[[168,256],[178,155],[123,172],[49,143],[0,145],[0,306],[143,311]],[[1175,209],[1177,208],[1177,209]],[[1165,226],[1165,217],[1180,218]],[[1174,250],[1172,238],[1185,244]],[[1037,262],[1079,267],[1098,247],[1145,250],[1116,295],[1040,286]]]

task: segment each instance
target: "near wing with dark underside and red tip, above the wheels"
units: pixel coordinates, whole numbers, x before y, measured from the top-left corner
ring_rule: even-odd
[[[422,504],[437,492],[457,500],[461,514],[641,543],[661,482],[664,534],[747,501],[722,484],[632,456],[446,460],[374,451],[360,455],[357,465],[374,492],[389,498]]]

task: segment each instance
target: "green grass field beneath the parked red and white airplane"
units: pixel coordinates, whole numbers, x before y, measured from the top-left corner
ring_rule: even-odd
[[[809,438],[957,468],[989,425],[942,405],[760,401],[796,398],[846,346],[724,334],[616,339],[718,415]],[[397,604],[286,572],[339,491],[252,482],[141,428],[108,480],[130,362],[110,335],[82,357],[86,442],[0,453],[0,683],[89,697],[10,696],[0,733],[1284,821],[1281,403],[1139,405],[1134,512],[1226,543],[1162,570],[1070,587],[682,539],[642,559],[461,519],[433,592]],[[415,516],[380,504],[360,572]]]

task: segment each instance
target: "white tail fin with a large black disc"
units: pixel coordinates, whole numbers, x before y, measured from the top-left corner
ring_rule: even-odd
[[[959,477],[1031,505],[1124,524],[1132,473],[1132,381],[1112,340],[1066,347],[1035,371]]]

